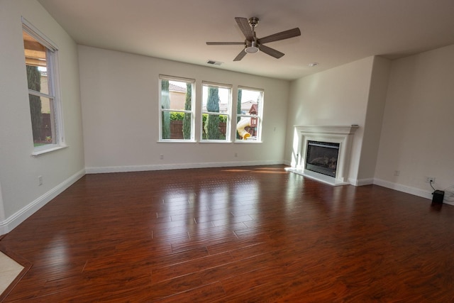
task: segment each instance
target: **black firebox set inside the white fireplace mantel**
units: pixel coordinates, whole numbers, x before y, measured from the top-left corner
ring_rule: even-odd
[[[336,177],[339,143],[307,141],[306,170]]]

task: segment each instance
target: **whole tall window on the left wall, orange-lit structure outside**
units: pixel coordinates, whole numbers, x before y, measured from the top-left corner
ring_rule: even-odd
[[[23,20],[28,101],[33,133],[33,155],[63,147],[60,98],[57,94],[57,48]]]

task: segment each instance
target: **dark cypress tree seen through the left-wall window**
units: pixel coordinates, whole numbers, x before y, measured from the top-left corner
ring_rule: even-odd
[[[27,67],[27,82],[28,89],[33,89],[35,92],[41,91],[41,73],[37,66],[26,65]],[[33,132],[33,141],[41,141],[41,126],[43,124],[43,116],[41,114],[41,98],[33,94],[28,95],[30,102],[31,114],[31,129]]]

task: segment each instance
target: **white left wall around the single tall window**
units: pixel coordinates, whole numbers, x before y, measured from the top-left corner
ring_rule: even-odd
[[[68,148],[31,157],[33,136],[21,16],[59,48],[63,121]],[[0,184],[3,218],[9,232],[84,173],[77,46],[38,1],[0,2]],[[38,175],[43,185],[38,186]]]

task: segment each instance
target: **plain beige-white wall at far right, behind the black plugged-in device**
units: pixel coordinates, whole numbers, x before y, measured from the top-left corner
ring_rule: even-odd
[[[453,186],[453,79],[454,45],[392,62],[377,184],[429,199],[426,176],[436,177],[436,189]]]

